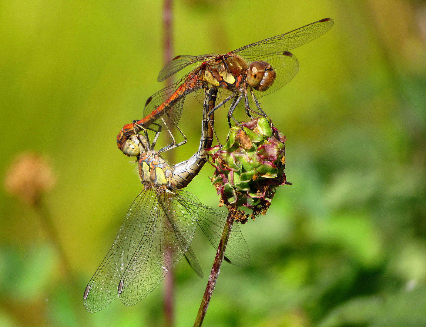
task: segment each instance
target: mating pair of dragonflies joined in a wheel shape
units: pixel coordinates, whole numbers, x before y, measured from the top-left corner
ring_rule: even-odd
[[[248,117],[266,117],[258,99],[278,90],[299,70],[296,57],[289,50],[321,36],[333,26],[325,18],[294,31],[246,45],[227,54],[178,56],[158,75],[163,81],[181,69],[201,63],[178,82],[149,97],[144,118],[125,125],[117,136],[118,148],[127,156],[136,156],[143,191],[130,207],[123,225],[101,266],[84,292],[84,305],[96,312],[119,297],[126,305],[140,301],[150,293],[184,256],[199,276],[201,268],[190,243],[196,225],[217,247],[226,222],[226,214],[201,204],[192,194],[181,191],[207,161],[206,148],[213,141],[214,112],[229,108],[228,123],[244,99]],[[170,167],[161,153],[184,144],[187,139],[177,123],[184,99],[190,93],[203,104],[203,122],[199,150],[187,161]],[[170,129],[176,127],[184,141],[177,143]],[[160,132],[165,129],[172,143],[154,150]],[[150,142],[147,130],[154,131]],[[143,133],[142,133],[143,132]],[[245,267],[248,247],[235,224],[225,259]]]

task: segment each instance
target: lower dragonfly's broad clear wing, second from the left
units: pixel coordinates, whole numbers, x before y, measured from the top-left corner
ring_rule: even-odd
[[[158,193],[157,193],[158,194]],[[161,193],[142,215],[146,237],[134,242],[122,281],[121,301],[133,305],[150,293],[188,250],[196,226],[196,206],[174,193]]]

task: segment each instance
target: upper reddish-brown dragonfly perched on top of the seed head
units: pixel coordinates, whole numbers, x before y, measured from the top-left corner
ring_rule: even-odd
[[[248,117],[251,118],[250,113],[255,113],[256,109],[257,114],[266,117],[259,105],[259,98],[287,84],[299,70],[299,62],[289,50],[320,37],[332,26],[333,20],[324,18],[227,54],[175,57],[161,69],[158,74],[159,82],[187,66],[199,65],[176,83],[149,97],[145,103],[144,118],[137,121],[137,125],[147,127],[157,123],[169,129],[175,127],[181,117],[185,97],[195,92],[196,99],[203,103],[204,90],[212,86],[219,88],[216,99],[218,103],[210,110],[208,117],[220,107],[229,108],[228,124],[231,126],[230,119],[233,119],[239,125],[233,112],[243,99]],[[256,106],[254,110],[253,102]],[[124,125],[117,136],[118,148],[121,148],[128,135],[134,133],[133,127],[134,124]],[[180,129],[179,132],[181,133]],[[173,138],[172,146],[182,145],[186,141],[184,137],[184,141],[177,143]]]

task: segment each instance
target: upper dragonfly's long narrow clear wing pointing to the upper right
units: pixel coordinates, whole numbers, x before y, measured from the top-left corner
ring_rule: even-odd
[[[270,37],[231,52],[246,58],[283,53],[320,37],[333,26],[333,23],[331,18],[325,18],[297,28],[294,31]]]

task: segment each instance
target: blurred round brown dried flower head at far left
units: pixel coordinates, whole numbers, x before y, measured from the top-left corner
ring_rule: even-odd
[[[6,172],[6,192],[29,205],[37,205],[40,196],[55,185],[51,166],[42,156],[28,152],[17,156]]]

